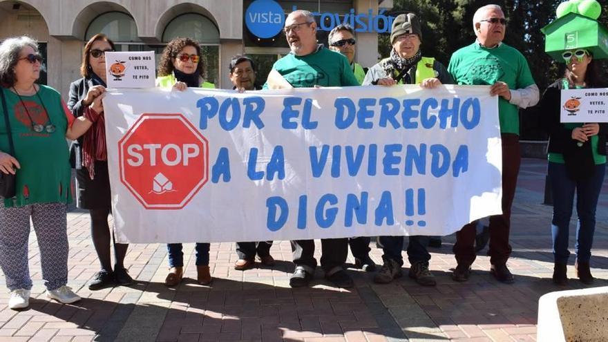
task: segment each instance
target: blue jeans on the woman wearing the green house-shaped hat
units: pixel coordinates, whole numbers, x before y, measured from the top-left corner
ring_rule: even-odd
[[[553,236],[553,258],[555,263],[567,263],[569,225],[572,216],[574,191],[576,189],[576,258],[579,262],[588,263],[591,258],[593,233],[596,231],[596,207],[606,165],[596,165],[593,176],[586,180],[571,180],[568,178],[566,165],[549,162],[549,181],[553,191],[553,220],[551,220],[551,235]]]

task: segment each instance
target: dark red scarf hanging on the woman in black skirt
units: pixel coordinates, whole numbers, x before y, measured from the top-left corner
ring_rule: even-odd
[[[93,86],[106,86],[106,83],[91,73]],[[95,113],[88,108],[84,109],[84,117],[93,122],[82,139],[82,165],[88,170],[91,180],[95,178],[95,160],[108,160],[108,150],[106,149],[106,124],[104,113]]]

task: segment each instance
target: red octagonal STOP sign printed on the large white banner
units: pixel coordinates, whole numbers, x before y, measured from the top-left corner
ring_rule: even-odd
[[[146,209],[180,209],[207,182],[209,144],[181,114],[142,114],[118,142],[120,182]]]

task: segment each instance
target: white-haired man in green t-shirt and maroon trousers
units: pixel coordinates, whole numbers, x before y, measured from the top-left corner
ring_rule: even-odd
[[[520,169],[519,108],[538,102],[538,86],[534,83],[524,55],[502,43],[506,19],[500,6],[487,5],[473,16],[477,40],[457,50],[450,59],[448,71],[457,84],[491,86],[490,94],[498,95],[498,117],[502,140],[502,215],[490,218],[491,274],[503,283],[513,283],[513,274],[506,267],[511,254],[509,229],[511,205],[515,196],[517,173]],[[453,251],[457,267],[455,281],[467,281],[475,260],[475,226],[471,222],[456,234]]]

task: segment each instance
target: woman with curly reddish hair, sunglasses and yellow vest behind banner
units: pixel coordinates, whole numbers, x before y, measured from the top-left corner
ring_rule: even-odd
[[[213,84],[205,82],[203,73],[198,42],[189,38],[175,38],[162,51],[156,84],[162,88],[172,87],[175,91],[185,91],[188,87],[215,88]],[[209,243],[196,243],[197,281],[201,285],[209,285],[213,280],[209,272],[209,246]],[[182,244],[170,243],[167,252],[169,274],[164,283],[176,286],[184,276]]]

